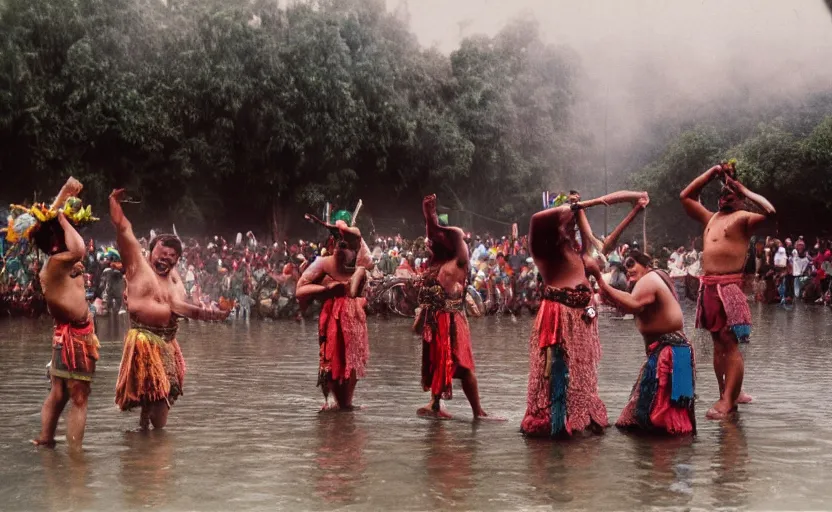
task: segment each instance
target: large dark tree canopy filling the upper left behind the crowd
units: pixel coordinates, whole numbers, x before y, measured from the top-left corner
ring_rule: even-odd
[[[147,222],[283,234],[326,201],[413,218],[431,191],[511,222],[562,165],[573,59],[532,22],[446,57],[381,0],[1,9],[3,199],[73,174]]]

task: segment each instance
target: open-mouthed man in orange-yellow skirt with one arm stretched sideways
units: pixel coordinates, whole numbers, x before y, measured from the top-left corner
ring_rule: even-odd
[[[223,321],[229,311],[208,310],[189,304],[185,286],[176,272],[182,242],[174,235],[158,235],[150,241],[150,254],[142,247],[121,201],[124,190],[110,194],[110,220],[127,280],[130,330],[116,382],[116,404],[122,411],[141,406],[139,427],[164,428],[168,411],[183,393],[185,360],[176,341],[177,320]]]

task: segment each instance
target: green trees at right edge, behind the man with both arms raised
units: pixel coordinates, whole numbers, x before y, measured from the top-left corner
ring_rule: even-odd
[[[801,138],[802,132],[807,135]],[[782,231],[824,231],[823,219],[832,213],[832,116],[821,118],[811,131],[796,117],[778,116],[730,145],[732,134],[736,131],[720,124],[683,132],[657,160],[631,177],[634,187],[650,194],[650,230],[673,243],[700,236],[701,226],[682,218],[678,194],[714,164],[736,158],[738,178],[774,204]],[[711,210],[717,193],[712,185],[702,194]]]

